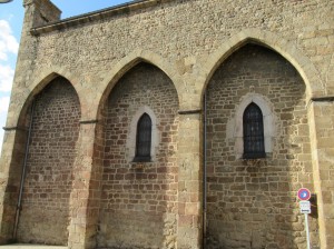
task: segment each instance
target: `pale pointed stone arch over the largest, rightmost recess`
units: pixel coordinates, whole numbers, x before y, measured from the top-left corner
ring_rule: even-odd
[[[225,61],[233,52],[247,43],[257,43],[259,46],[267,47],[283,56],[289,63],[292,63],[306,84],[307,100],[315,96],[325,94],[324,82],[322,82],[317,70],[311,60],[292,42],[272,32],[259,29],[243,30],[224,42],[216,52],[208,57],[206,62],[203,64],[204,74],[206,76],[203,92],[222,62]]]

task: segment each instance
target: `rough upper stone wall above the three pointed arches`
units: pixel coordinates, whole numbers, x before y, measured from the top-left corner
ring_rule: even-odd
[[[160,54],[176,66],[175,70],[183,77],[196,76],[207,57],[229,38],[256,28],[292,42],[315,67],[325,69],[333,64],[333,50],[328,46],[334,36],[331,6],[332,1],[252,4],[248,1],[166,1],[90,23],[42,32],[38,34],[36,59],[43,70],[61,66],[78,72],[87,89],[102,91],[106,86],[97,86],[97,82],[135,50]],[[33,68],[27,70],[28,74],[39,72]],[[331,83],[330,71],[318,71],[321,81]]]

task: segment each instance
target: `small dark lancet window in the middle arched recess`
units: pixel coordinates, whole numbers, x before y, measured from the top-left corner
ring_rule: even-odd
[[[151,119],[144,113],[137,123],[136,156],[134,161],[150,161]]]

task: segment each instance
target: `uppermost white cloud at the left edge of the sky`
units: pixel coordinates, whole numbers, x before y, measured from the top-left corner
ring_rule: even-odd
[[[8,53],[17,54],[19,42],[12,34],[9,22],[0,20],[0,60],[8,60]]]

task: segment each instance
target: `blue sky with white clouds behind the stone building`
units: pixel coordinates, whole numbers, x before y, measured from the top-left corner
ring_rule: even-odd
[[[10,101],[11,86],[19,49],[24,9],[23,0],[0,3],[0,155],[3,129]],[[69,18],[99,9],[130,2],[130,0],[51,0]]]

